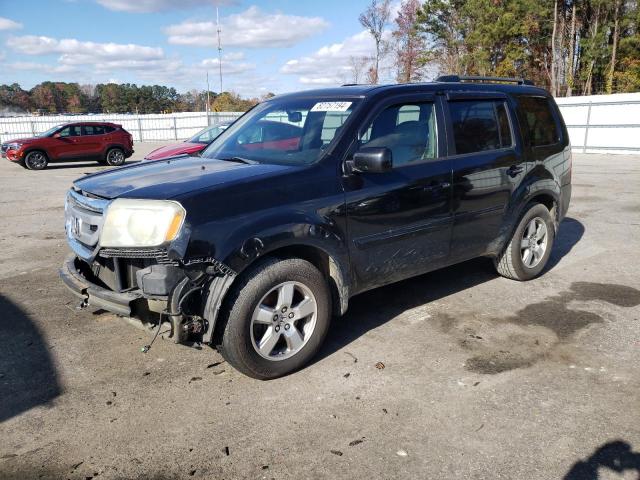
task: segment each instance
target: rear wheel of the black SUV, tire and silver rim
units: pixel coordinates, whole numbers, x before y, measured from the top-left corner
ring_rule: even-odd
[[[503,252],[494,259],[500,275],[512,280],[531,280],[549,260],[555,240],[555,223],[541,203],[531,203]]]

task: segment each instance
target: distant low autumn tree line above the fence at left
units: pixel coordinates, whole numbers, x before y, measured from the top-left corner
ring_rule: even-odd
[[[271,94],[272,95],[272,94]],[[20,85],[0,85],[0,113],[161,113],[246,111],[260,99],[244,99],[231,92],[190,90],[178,93],[161,85],[79,85],[43,82],[30,90]]]

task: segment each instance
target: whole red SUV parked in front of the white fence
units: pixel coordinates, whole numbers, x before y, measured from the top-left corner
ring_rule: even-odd
[[[121,125],[79,122],[58,125],[33,138],[2,144],[2,158],[29,170],[42,170],[52,161],[97,160],[122,165],[133,155],[133,137]]]

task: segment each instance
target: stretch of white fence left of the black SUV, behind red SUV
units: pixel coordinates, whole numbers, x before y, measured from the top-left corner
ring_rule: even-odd
[[[134,142],[176,141],[192,137],[204,127],[238,118],[238,112],[171,113],[155,115],[51,115],[0,118],[0,140],[32,137],[68,122],[113,122],[122,125]]]

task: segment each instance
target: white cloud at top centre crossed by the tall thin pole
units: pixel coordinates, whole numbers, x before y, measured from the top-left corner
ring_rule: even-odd
[[[258,7],[221,19],[222,47],[291,47],[329,26],[321,17],[266,14]],[[185,21],[165,28],[169,43],[217,46],[215,22]]]

